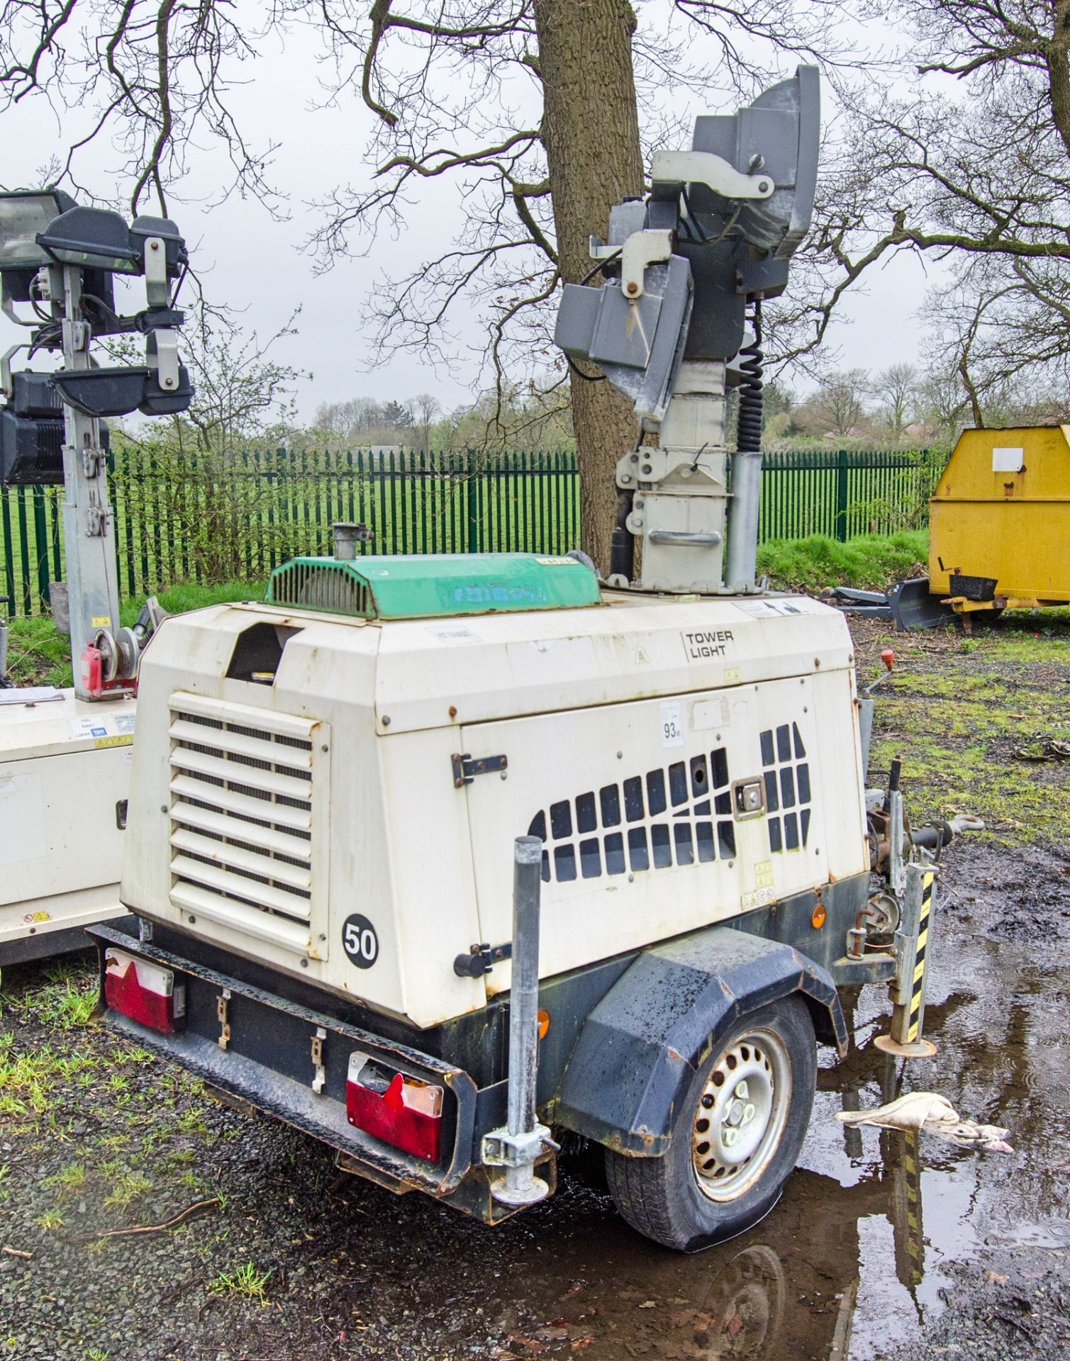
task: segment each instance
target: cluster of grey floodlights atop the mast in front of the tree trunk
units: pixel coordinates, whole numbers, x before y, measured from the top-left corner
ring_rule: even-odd
[[[610,212],[591,238],[603,286],[566,284],[554,339],[598,363],[645,426],[668,407],[683,359],[727,363],[749,298],[776,297],[810,226],[820,87],[799,67],[735,114],[696,120],[690,151],[659,151],[645,203]]]

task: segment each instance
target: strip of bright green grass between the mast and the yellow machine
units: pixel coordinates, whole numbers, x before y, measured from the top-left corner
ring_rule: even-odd
[[[822,534],[809,539],[775,539],[758,548],[758,572],[773,585],[794,591],[822,587],[883,589],[928,559],[928,534],[860,535],[839,543]]]

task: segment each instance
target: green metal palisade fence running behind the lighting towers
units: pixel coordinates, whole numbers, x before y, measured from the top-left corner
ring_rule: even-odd
[[[926,452],[769,452],[760,536],[903,528],[943,457]],[[580,542],[576,455],[250,450],[223,470],[113,456],[113,543],[124,597],[221,573],[267,577],[297,554],[331,551],[331,525],[374,531],[362,553],[561,554]],[[0,489],[0,596],[38,614],[63,578],[63,487]],[[3,603],[3,602],[0,602]]]

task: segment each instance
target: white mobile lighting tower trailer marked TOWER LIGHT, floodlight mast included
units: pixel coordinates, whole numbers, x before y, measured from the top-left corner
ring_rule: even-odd
[[[698,118],[565,289],[558,344],[643,425],[609,583],[358,555],[350,525],[144,659],[102,1006],[396,1192],[496,1224],[572,1131],[630,1224],[702,1247],[780,1195],[840,988],[888,984],[889,1045],[924,1052],[949,833],[894,772],[866,789],[844,617],[754,573],[760,305],[817,148],[813,68]]]

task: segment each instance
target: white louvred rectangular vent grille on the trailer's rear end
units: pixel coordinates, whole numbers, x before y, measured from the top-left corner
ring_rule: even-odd
[[[323,725],[184,693],[172,695],[170,717],[173,905],[319,954],[314,765]]]

